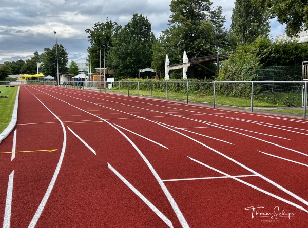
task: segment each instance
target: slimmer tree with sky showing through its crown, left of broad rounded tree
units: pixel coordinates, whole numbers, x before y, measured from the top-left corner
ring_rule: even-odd
[[[91,67],[103,68],[103,51],[105,48],[105,58],[108,56],[108,52],[112,47],[112,39],[121,30],[121,25],[116,22],[111,22],[111,20],[106,19],[105,23],[97,22],[91,29],[86,29],[85,32],[88,35],[88,40],[91,44],[88,47],[89,57],[91,58]]]

